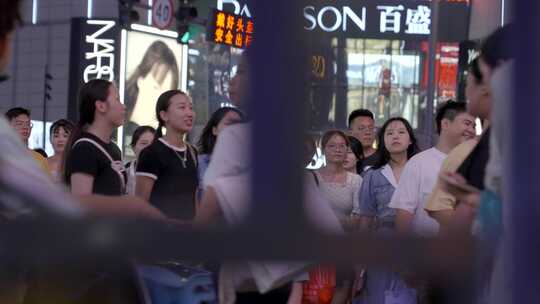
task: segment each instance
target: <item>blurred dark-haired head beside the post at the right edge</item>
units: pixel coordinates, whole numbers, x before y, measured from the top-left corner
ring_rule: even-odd
[[[482,43],[479,67],[486,85],[491,82],[493,71],[504,62],[514,58],[512,39],[514,26],[507,24],[495,30]]]

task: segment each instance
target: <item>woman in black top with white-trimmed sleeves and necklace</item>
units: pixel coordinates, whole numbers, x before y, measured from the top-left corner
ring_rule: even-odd
[[[168,217],[191,220],[198,187],[197,153],[184,141],[195,119],[191,98],[180,90],[161,94],[156,118],[156,139],[139,156],[135,193]]]

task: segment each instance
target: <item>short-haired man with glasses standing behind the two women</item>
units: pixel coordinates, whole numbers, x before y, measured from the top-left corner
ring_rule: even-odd
[[[377,161],[377,153],[373,147],[376,137],[375,119],[370,110],[357,109],[349,114],[349,130],[352,136],[362,143],[364,158],[361,170],[372,167]]]

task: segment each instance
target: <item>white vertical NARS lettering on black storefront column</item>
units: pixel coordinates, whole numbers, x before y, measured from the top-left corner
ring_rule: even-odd
[[[115,62],[115,40],[110,38],[116,23],[113,20],[88,20],[87,25],[95,31],[85,36],[85,43],[90,50],[85,52],[86,67],[83,72],[84,82],[94,78],[113,81]]]

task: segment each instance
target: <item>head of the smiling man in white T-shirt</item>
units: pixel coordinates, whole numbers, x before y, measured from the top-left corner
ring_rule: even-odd
[[[467,112],[465,102],[449,100],[439,106],[436,115],[440,139],[452,146],[472,139],[476,135],[475,118]]]

